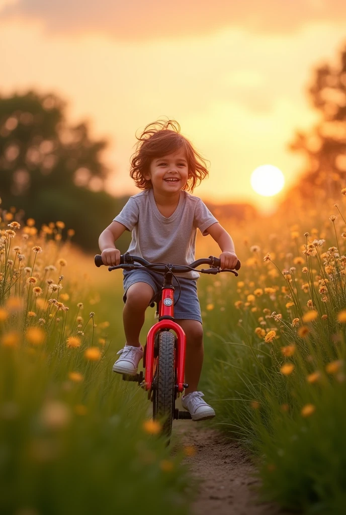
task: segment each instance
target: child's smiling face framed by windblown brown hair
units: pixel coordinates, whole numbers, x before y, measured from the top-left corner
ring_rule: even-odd
[[[165,195],[179,192],[187,183],[188,165],[183,148],[151,161],[145,179],[151,180],[154,191]]]

